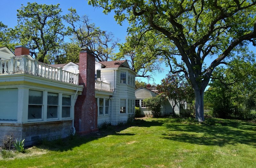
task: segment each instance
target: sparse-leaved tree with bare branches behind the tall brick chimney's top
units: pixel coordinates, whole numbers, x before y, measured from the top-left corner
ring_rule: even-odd
[[[103,31],[94,23],[90,23],[88,16],[78,16],[76,9],[70,8],[69,11],[63,18],[69,24],[67,29],[71,43],[79,48],[90,49],[97,61],[108,61],[112,58],[119,39],[116,39],[113,33]]]

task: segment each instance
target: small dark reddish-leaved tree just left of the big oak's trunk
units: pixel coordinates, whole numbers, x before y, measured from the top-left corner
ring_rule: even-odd
[[[194,98],[194,91],[191,84],[188,83],[184,75],[168,74],[160,85],[157,85],[157,90],[162,95],[172,101],[172,113],[174,114],[175,106],[180,102],[191,103]]]

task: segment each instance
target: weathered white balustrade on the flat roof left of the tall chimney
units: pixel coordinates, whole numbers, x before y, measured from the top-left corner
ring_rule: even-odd
[[[0,75],[14,73],[26,73],[76,85],[78,84],[79,77],[79,74],[62,70],[62,68],[52,67],[51,65],[38,62],[36,59],[29,59],[27,56],[1,59]]]

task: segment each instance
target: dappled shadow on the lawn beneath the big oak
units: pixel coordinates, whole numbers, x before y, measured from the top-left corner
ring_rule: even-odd
[[[236,145],[237,143],[256,147],[256,124],[240,120],[211,119],[213,124],[184,123],[172,119],[164,126],[170,131],[164,139],[199,145]]]

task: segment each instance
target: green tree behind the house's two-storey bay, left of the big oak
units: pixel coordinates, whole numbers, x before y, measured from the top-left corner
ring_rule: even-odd
[[[119,44],[120,52],[114,59],[126,59],[131,69],[137,72],[136,77],[152,77],[156,71],[163,70],[161,63],[164,62],[162,57],[166,47],[157,42],[161,40],[163,39],[150,31],[144,33],[144,36],[127,36],[126,42]]]

